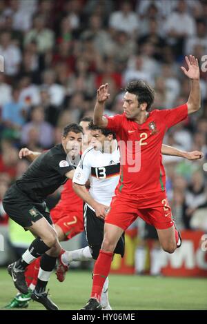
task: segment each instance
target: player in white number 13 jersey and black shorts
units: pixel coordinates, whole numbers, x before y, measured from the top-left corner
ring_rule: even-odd
[[[75,192],[85,201],[83,219],[86,239],[92,259],[96,260],[103,241],[104,218],[119,183],[120,155],[114,133],[92,123],[89,129],[93,146],[83,153],[72,182]],[[89,191],[85,186],[88,180]],[[124,235],[119,239],[115,253],[124,256]],[[111,310],[107,290],[108,278],[101,294],[102,310]]]

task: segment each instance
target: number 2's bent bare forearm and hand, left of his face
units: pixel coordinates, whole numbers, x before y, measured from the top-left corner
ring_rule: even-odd
[[[108,119],[103,116],[105,101],[110,97],[108,93],[108,83],[102,84],[97,90],[97,102],[93,113],[93,123],[99,127],[105,128],[108,124]]]

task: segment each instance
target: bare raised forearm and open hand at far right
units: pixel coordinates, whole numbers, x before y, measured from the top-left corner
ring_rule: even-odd
[[[190,94],[187,101],[188,105],[188,114],[193,114],[197,112],[201,106],[201,93],[200,93],[200,84],[199,84],[199,63],[193,55],[190,55],[189,58],[186,57],[186,63],[188,65],[188,70],[181,66],[181,70],[186,74],[190,79]]]

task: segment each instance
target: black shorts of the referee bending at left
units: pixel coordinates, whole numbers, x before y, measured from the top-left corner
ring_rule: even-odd
[[[3,198],[3,208],[13,221],[24,228],[32,226],[32,222],[35,223],[43,217],[52,225],[46,203],[33,202],[16,184],[7,190]]]

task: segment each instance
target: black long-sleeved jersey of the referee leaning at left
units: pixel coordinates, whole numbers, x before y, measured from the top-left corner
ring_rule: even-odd
[[[63,146],[58,144],[38,156],[16,184],[32,201],[41,203],[66,182],[65,174],[70,170],[73,167],[66,159]]]

